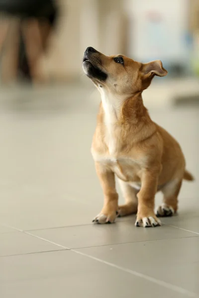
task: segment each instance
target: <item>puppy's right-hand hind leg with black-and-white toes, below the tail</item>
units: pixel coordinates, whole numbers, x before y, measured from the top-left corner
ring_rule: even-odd
[[[157,208],[158,217],[173,216],[178,210],[178,195],[181,189],[182,180],[173,180],[162,189],[164,194],[163,204]]]

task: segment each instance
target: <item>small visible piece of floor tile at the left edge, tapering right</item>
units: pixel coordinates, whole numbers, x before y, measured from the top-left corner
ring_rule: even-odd
[[[0,234],[0,256],[60,249],[63,248],[22,232]]]

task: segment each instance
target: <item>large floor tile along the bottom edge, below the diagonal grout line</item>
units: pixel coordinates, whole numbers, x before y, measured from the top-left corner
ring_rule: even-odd
[[[0,258],[0,268],[3,298],[188,297],[72,251]]]

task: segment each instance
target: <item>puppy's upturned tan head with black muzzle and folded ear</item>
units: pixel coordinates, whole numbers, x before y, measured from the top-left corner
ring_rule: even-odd
[[[123,55],[105,56],[92,47],[84,53],[83,70],[99,89],[120,95],[143,91],[154,75],[167,75],[160,60],[142,64]]]

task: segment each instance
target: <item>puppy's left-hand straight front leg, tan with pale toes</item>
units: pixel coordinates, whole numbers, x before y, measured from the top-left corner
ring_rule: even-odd
[[[98,224],[111,224],[116,218],[118,209],[118,194],[115,189],[115,176],[114,173],[96,162],[96,171],[100,179],[100,184],[103,190],[104,203],[100,214],[93,220]]]

